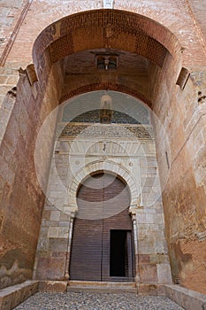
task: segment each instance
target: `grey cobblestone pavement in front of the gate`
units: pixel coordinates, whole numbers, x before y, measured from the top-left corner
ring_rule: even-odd
[[[15,310],[181,310],[171,299],[143,297],[131,293],[105,294],[86,292],[36,293]]]

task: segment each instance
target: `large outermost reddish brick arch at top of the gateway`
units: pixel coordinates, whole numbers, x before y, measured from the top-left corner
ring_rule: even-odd
[[[34,42],[34,66],[40,81],[58,60],[80,50],[118,49],[133,52],[162,67],[180,44],[172,32],[134,12],[94,10],[59,19]],[[46,68],[46,71],[44,70]]]

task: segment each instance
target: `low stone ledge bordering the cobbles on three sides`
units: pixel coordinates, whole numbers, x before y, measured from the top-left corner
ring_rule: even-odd
[[[65,292],[74,290],[94,292],[139,292],[140,295],[159,295],[172,299],[176,304],[186,310],[206,310],[206,295],[196,291],[187,290],[179,285],[156,285],[135,283],[96,283],[78,281],[26,281],[0,291],[0,309],[11,310],[24,300],[34,295],[38,291]],[[103,290],[102,290],[103,289]],[[120,291],[119,291],[120,290]]]

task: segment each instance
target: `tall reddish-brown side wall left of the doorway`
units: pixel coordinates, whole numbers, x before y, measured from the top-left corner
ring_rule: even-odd
[[[52,76],[58,71],[61,72],[60,66],[51,69],[48,81],[51,89],[45,94],[38,82],[30,85],[24,72],[17,90],[5,97],[2,106],[6,109],[11,105],[12,111],[3,128],[0,145],[0,288],[32,277],[44,202],[34,167],[35,141],[45,115],[57,105],[61,80],[57,85]],[[43,104],[39,105],[40,102]],[[45,180],[44,186],[55,122],[53,120],[52,128],[48,128],[44,136],[47,143],[42,148],[42,175],[39,175]]]

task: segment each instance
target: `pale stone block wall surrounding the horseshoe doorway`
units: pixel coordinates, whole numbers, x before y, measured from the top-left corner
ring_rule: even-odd
[[[139,204],[131,206],[134,234],[137,234],[134,237],[137,240],[135,280],[140,293],[151,293],[156,290],[157,284],[172,282],[164,236],[164,213],[155,144],[151,138],[134,139],[134,135],[131,134],[130,138],[122,136],[114,139],[112,133],[115,134],[117,126],[108,126],[108,136],[89,136],[89,132],[84,131],[73,138],[66,136],[65,132],[57,141],[51,162],[47,200],[42,214],[34,277],[40,280],[65,278],[68,272],[65,270],[68,268],[66,257],[70,254],[69,244],[72,237],[71,214],[76,210],[74,205],[77,193],[72,195],[72,200],[72,183],[76,182],[78,188],[79,181],[76,177],[79,177],[84,169],[88,170],[89,175],[89,167],[95,163],[96,171],[105,166],[108,171],[111,169],[113,172],[113,167],[116,167],[118,174],[118,167],[121,167],[129,171],[130,177],[134,178],[138,196],[141,196]],[[78,125],[76,127],[78,128]],[[95,133],[95,129],[102,128],[103,125],[101,127],[95,124],[91,127],[94,127],[92,132]],[[72,133],[74,132],[75,130],[72,130]],[[103,143],[106,145],[106,151],[103,151]]]

